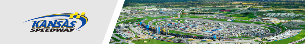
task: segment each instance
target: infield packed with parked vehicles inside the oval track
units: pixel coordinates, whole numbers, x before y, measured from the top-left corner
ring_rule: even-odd
[[[194,34],[200,34],[205,36],[217,36],[223,37],[233,37],[237,34],[241,37],[247,36],[259,36],[266,34],[269,30],[266,30],[262,27],[257,26],[247,26],[247,25],[235,25],[235,24],[224,24],[224,23],[214,23],[214,22],[203,22],[196,20],[183,20],[185,23],[171,23],[174,20],[162,21],[157,24],[160,24],[161,28],[167,28],[171,30],[179,30],[182,32],[189,32]],[[215,30],[223,29],[223,30]],[[203,32],[209,31],[209,32]],[[242,34],[241,34],[242,33]]]

